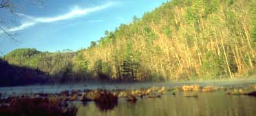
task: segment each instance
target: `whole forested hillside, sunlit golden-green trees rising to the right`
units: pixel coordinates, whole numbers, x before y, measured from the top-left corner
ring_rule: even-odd
[[[201,81],[253,76],[255,55],[255,0],[171,0],[87,48],[21,48],[0,63],[43,74],[45,83]]]

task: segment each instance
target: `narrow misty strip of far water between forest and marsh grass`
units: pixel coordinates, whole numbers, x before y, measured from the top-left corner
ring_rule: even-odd
[[[215,87],[246,87],[256,84],[256,78],[233,79],[225,81],[195,81],[195,82],[173,82],[173,83],[78,83],[70,85],[28,85],[19,87],[0,87],[2,98],[8,96],[20,96],[32,93],[59,93],[64,90],[84,90],[84,89],[138,89],[141,87],[181,87],[183,85],[213,85]]]

